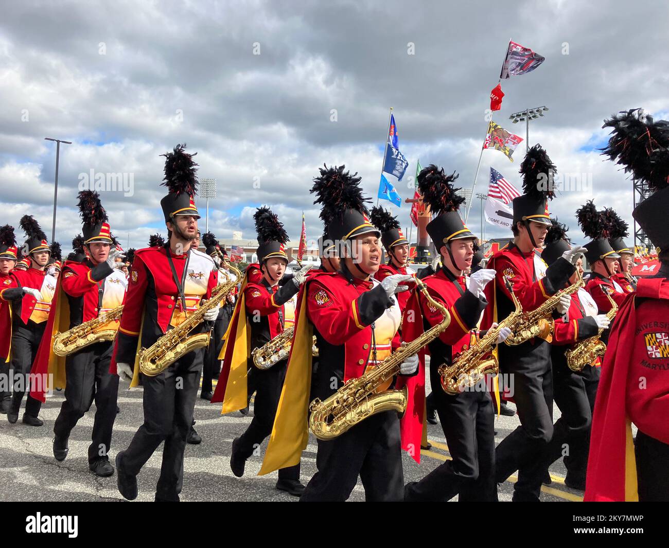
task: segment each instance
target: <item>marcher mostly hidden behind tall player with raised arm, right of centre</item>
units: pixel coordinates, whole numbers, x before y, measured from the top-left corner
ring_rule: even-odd
[[[565,225],[551,219],[545,248],[541,258],[551,266],[562,254],[571,249]],[[569,278],[565,286],[574,284],[583,275],[583,258],[576,261],[577,272]],[[561,417],[553,425],[553,438],[547,448],[545,470],[560,458],[565,445],[569,453],[564,462],[567,468],[565,485],[573,489],[585,489],[585,468],[592,410],[599,382],[599,367],[588,364],[582,371],[572,371],[567,367],[565,352],[578,341],[597,335],[599,329],[606,329],[609,318],[597,313],[597,304],[583,288],[569,296],[569,304],[561,303],[553,312],[555,324],[551,344],[551,368],[553,370],[553,397],[561,411]]]

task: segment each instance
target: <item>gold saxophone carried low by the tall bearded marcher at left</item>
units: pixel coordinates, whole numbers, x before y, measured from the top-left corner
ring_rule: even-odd
[[[242,273],[234,266],[230,265],[230,270],[237,275],[237,280],[242,279]],[[139,369],[142,373],[149,377],[155,377],[181,356],[209,345],[211,331],[197,333],[196,335],[190,335],[190,333],[204,321],[205,313],[211,308],[217,308],[232,288],[237,285],[237,280],[233,280],[229,276],[227,278],[226,282],[213,288],[211,298],[188,316],[183,323],[167,331],[148,349],[144,347],[140,349],[138,358]]]

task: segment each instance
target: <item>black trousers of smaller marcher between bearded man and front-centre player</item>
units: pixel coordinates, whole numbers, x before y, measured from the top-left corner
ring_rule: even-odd
[[[265,438],[272,434],[276,408],[279,405],[287,367],[288,362],[286,360],[279,361],[265,371],[254,367],[253,377],[256,388],[256,399],[254,401],[253,420],[246,429],[246,432],[240,436],[236,447],[239,456],[244,459],[254,454]],[[280,468],[279,479],[299,480],[300,464],[289,466],[288,468]]]

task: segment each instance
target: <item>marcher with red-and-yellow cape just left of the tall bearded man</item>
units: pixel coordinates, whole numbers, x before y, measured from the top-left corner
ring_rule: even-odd
[[[57,296],[52,302],[49,322],[33,366],[33,372],[54,372],[58,357],[53,353],[53,338],[74,327],[104,316],[123,304],[127,288],[125,275],[116,268],[122,254],[112,248],[112,235],[107,213],[98,193],[80,191],[79,211],[88,259],[66,262]],[[62,290],[62,291],[61,291]],[[99,329],[118,329],[118,320]],[[70,433],[95,401],[95,418],[88,447],[88,468],[97,476],[111,476],[109,462],[112,428],[116,418],[118,376],[110,373],[112,341],[88,345],[64,358],[65,401],[54,424],[54,457],[68,456]],[[49,367],[49,365],[52,367]],[[44,391],[33,391],[33,397],[45,401]]]

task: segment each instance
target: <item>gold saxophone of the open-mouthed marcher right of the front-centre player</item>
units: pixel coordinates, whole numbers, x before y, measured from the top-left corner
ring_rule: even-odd
[[[476,345],[471,345],[466,351],[460,353],[451,365],[446,365],[446,363],[440,365],[438,371],[442,377],[442,388],[447,394],[456,395],[464,388],[474,386],[487,373],[496,375],[499,369],[497,358],[494,355],[490,355],[488,359],[484,358],[492,352],[502,327],[516,331],[524,320],[522,306],[506,276],[504,276],[504,284],[511,294],[516,310],[506,316],[497,327],[488,329],[488,333]]]

